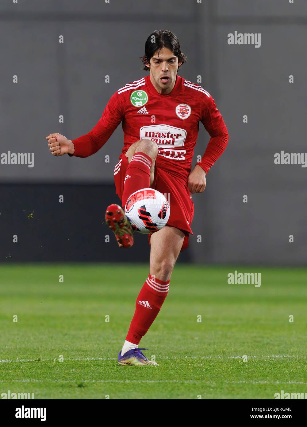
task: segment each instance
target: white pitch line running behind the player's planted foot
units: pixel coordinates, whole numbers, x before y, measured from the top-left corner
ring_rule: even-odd
[[[182,357],[177,357],[177,356],[173,356],[173,357],[159,357],[159,360],[167,360],[167,359],[171,359],[171,360],[182,360],[182,359],[243,359],[246,355],[243,356],[182,356]],[[305,355],[303,356],[298,356],[298,355],[290,355],[290,354],[271,354],[271,355],[263,355],[263,356],[249,356],[247,354],[247,358],[248,359],[271,359],[271,358],[287,358],[287,357],[299,357],[299,358],[306,358]],[[39,362],[55,362],[57,361],[58,358],[55,359],[40,359]],[[85,361],[85,360],[117,360],[117,357],[75,357],[72,359],[64,359],[64,360],[69,360],[69,361],[73,361],[73,360],[77,360],[77,361]],[[16,360],[10,360],[10,359],[0,359],[0,363],[16,363],[16,362],[38,362],[38,360],[36,359],[16,359]]]

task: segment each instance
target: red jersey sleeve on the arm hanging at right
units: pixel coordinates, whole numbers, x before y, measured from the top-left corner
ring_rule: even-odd
[[[218,111],[215,101],[211,95],[209,99],[206,99],[203,107],[201,122],[211,138],[202,160],[197,163],[197,165],[202,167],[207,174],[211,166],[213,166],[225,150],[229,140],[228,131],[222,114]]]

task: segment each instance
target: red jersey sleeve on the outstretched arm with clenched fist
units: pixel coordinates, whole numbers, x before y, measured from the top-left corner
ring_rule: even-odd
[[[124,118],[123,105],[123,99],[119,100],[119,95],[116,92],[110,98],[101,118],[93,129],[86,135],[72,140],[75,146],[74,156],[88,157],[104,146]]]

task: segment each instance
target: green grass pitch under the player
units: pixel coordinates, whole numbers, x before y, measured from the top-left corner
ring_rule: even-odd
[[[261,272],[261,287],[228,284],[235,269]],[[147,275],[143,265],[0,266],[0,393],[272,399],[281,390],[307,392],[307,269],[176,266],[141,342],[159,366],[118,366]]]

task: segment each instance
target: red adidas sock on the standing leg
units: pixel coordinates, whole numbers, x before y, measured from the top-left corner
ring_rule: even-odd
[[[148,331],[168,294],[169,280],[163,282],[149,275],[138,297],[136,310],[130,324],[126,340],[139,344],[142,336]]]

